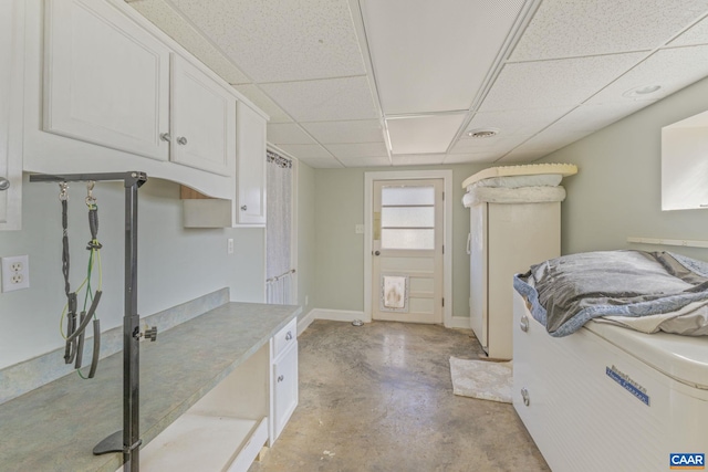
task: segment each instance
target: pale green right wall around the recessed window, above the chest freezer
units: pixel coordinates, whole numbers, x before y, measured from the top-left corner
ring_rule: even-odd
[[[708,80],[542,159],[576,164],[580,169],[563,179],[563,253],[643,249],[708,260],[706,249],[626,242],[627,237],[708,240],[708,211],[662,211],[660,176],[662,127],[706,109]]]

